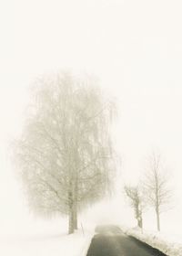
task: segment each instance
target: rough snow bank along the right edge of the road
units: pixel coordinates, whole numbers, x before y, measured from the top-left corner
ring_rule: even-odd
[[[137,240],[141,240],[148,245],[156,248],[159,251],[164,252],[167,256],[182,256],[182,243],[174,242],[167,236],[160,233],[148,232],[141,229],[126,229],[121,228],[126,235],[132,236]]]

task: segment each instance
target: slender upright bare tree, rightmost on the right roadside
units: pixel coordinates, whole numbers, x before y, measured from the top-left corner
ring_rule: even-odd
[[[161,156],[153,153],[149,156],[144,188],[148,204],[156,211],[158,231],[160,231],[160,214],[167,210],[170,202],[171,190],[168,181],[169,176],[162,165]]]

